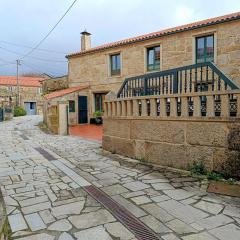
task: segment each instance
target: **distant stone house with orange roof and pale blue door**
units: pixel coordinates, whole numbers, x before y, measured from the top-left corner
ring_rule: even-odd
[[[19,77],[20,106],[28,115],[41,114],[43,108],[42,77]],[[5,102],[17,104],[16,76],[0,76],[0,92],[5,93]]]

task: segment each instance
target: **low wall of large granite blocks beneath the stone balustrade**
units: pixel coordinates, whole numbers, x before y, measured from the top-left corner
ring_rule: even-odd
[[[103,149],[163,166],[240,177],[240,119],[112,117],[104,119]]]

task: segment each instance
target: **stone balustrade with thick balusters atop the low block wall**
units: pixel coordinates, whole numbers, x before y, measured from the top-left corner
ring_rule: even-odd
[[[240,118],[240,90],[107,98],[105,118]]]

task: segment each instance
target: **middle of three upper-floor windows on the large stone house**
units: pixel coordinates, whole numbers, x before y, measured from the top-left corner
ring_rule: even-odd
[[[147,48],[147,70],[160,69],[160,46]]]

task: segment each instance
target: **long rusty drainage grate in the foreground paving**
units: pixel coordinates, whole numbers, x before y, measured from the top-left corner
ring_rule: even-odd
[[[114,217],[116,217],[123,225],[125,225],[139,240],[159,240],[150,228],[133,216],[126,208],[115,202],[106,193],[102,192],[95,186],[84,187],[95,200],[107,208]]]

